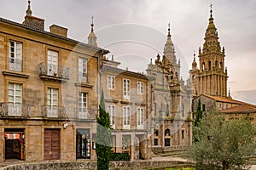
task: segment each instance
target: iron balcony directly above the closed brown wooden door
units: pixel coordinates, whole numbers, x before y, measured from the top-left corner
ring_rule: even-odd
[[[42,116],[49,118],[67,118],[65,107],[42,105]]]

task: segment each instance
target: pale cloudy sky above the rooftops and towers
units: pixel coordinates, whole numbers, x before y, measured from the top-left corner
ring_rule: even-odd
[[[0,17],[22,23],[26,0],[0,0]],[[210,15],[225,48],[228,87],[233,99],[256,105],[256,0],[32,0],[32,15],[55,24],[68,37],[87,42],[91,16],[99,47],[121,68],[145,72],[150,59],[162,54],[168,24],[183,79],[189,77],[193,54],[202,47]],[[0,28],[1,29],[1,28]],[[198,62],[198,58],[196,59]]]

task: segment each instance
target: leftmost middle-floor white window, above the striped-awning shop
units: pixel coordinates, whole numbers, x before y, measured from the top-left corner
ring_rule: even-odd
[[[9,83],[9,116],[21,116],[22,85]]]

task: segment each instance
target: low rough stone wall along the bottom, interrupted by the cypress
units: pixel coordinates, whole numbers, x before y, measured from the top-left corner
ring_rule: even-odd
[[[161,169],[164,167],[183,167],[188,165],[183,161],[110,161],[110,170],[129,169]],[[22,163],[0,167],[0,170],[92,170],[96,169],[96,161],[70,161],[70,162],[40,162]]]

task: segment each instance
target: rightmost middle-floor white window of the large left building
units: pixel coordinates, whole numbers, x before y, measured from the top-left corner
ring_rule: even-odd
[[[79,92],[79,117],[87,118],[87,93]]]

